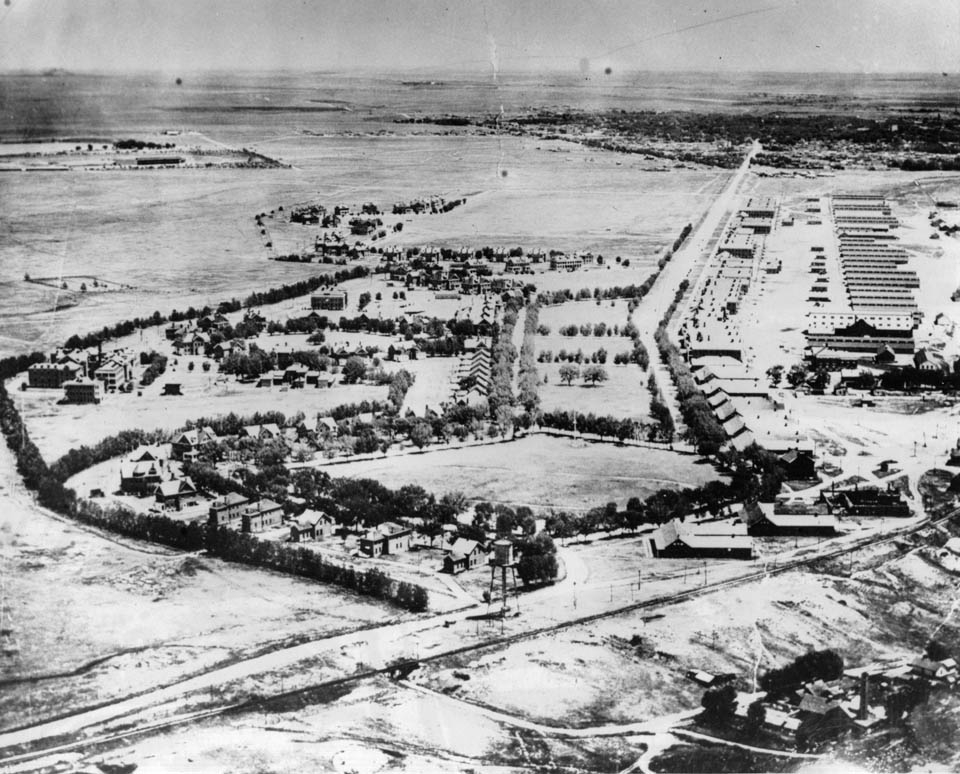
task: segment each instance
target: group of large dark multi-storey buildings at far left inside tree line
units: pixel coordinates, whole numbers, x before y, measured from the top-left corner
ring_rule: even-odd
[[[27,370],[31,389],[63,390],[65,403],[99,403],[106,393],[133,389],[137,356],[128,349],[58,350]]]

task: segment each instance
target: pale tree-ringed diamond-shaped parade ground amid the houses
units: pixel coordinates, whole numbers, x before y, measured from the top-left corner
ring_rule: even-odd
[[[599,388],[603,389],[603,388]],[[531,436],[494,444],[388,460],[350,462],[331,475],[375,478],[390,487],[419,484],[438,495],[462,491],[477,500],[536,508],[591,508],[657,489],[716,479],[709,465],[668,451]]]

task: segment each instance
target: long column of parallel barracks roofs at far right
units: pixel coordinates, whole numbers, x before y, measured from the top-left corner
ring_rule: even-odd
[[[835,243],[811,249],[808,300],[820,308],[807,314],[806,359],[836,369],[912,355],[922,317],[913,295],[920,280],[902,268],[908,256],[897,244],[899,223],[889,204],[838,193],[827,207]]]

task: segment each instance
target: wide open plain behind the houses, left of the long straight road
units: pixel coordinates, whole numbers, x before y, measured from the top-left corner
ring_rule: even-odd
[[[221,139],[229,142],[224,133]],[[253,222],[254,214],[302,202],[318,186],[314,198],[330,206],[374,201],[389,207],[425,192],[468,195],[467,204],[451,213],[415,218],[402,234],[382,240],[384,246],[592,250],[632,258],[629,274],[640,281],[649,273],[643,267],[679,232],[686,213],[701,208],[725,180],[715,171],[646,173],[580,147],[564,154],[538,151],[515,137],[305,135],[284,140],[280,148],[272,145],[262,150],[282,148],[294,169],[7,173],[16,175],[17,186],[16,196],[0,187],[6,221],[2,352],[51,346],[155,309],[167,313],[242,298],[332,271],[331,265],[268,261]],[[558,178],[561,157],[565,171]],[[505,177],[498,174],[501,164],[509,170]],[[81,293],[79,281],[68,281],[66,290],[28,285],[25,273],[88,274],[124,288]],[[600,271],[583,276],[588,274],[592,283]],[[542,276],[547,287],[567,286],[576,275]]]

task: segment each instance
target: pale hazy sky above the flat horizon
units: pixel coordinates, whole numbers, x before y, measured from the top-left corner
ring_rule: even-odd
[[[960,71],[958,0],[2,3],[3,71]]]

